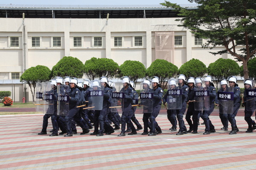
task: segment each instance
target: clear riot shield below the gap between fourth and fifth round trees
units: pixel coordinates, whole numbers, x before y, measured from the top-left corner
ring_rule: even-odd
[[[150,88],[150,82],[140,83],[140,106],[143,107],[143,113],[153,112],[153,94],[154,91]]]

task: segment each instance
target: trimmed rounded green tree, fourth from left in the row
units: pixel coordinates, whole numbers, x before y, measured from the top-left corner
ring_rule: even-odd
[[[128,76],[136,86],[138,79],[145,77],[146,68],[139,61],[126,60],[120,65],[119,74],[120,76]]]

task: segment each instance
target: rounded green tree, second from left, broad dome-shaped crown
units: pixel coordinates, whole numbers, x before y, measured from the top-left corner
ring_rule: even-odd
[[[69,76],[82,78],[84,75],[84,64],[75,57],[63,57],[52,67],[52,77]]]

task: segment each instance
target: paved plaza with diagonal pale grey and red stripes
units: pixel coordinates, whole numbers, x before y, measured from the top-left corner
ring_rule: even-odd
[[[229,135],[220,130],[217,112],[210,116],[216,132],[177,136],[171,132],[166,111],[161,110],[157,122],[163,133],[157,136],[118,137],[120,130],[104,136],[63,135],[39,136],[43,114],[0,116],[1,170],[253,170],[256,169],[256,131],[245,133],[247,123],[243,110],[236,117],[239,132]],[[142,114],[136,115],[143,125]],[[184,116],[185,117],[185,116]],[[252,117],[255,119],[255,116]],[[184,119],[185,123],[186,120]],[[200,119],[200,122],[203,121]],[[188,125],[186,124],[188,128]],[[93,129],[90,131],[93,132]]]

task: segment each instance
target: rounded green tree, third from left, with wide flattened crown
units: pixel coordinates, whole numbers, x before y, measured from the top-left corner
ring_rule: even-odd
[[[84,74],[91,80],[96,77],[114,77],[119,65],[113,59],[93,57],[84,63]]]

